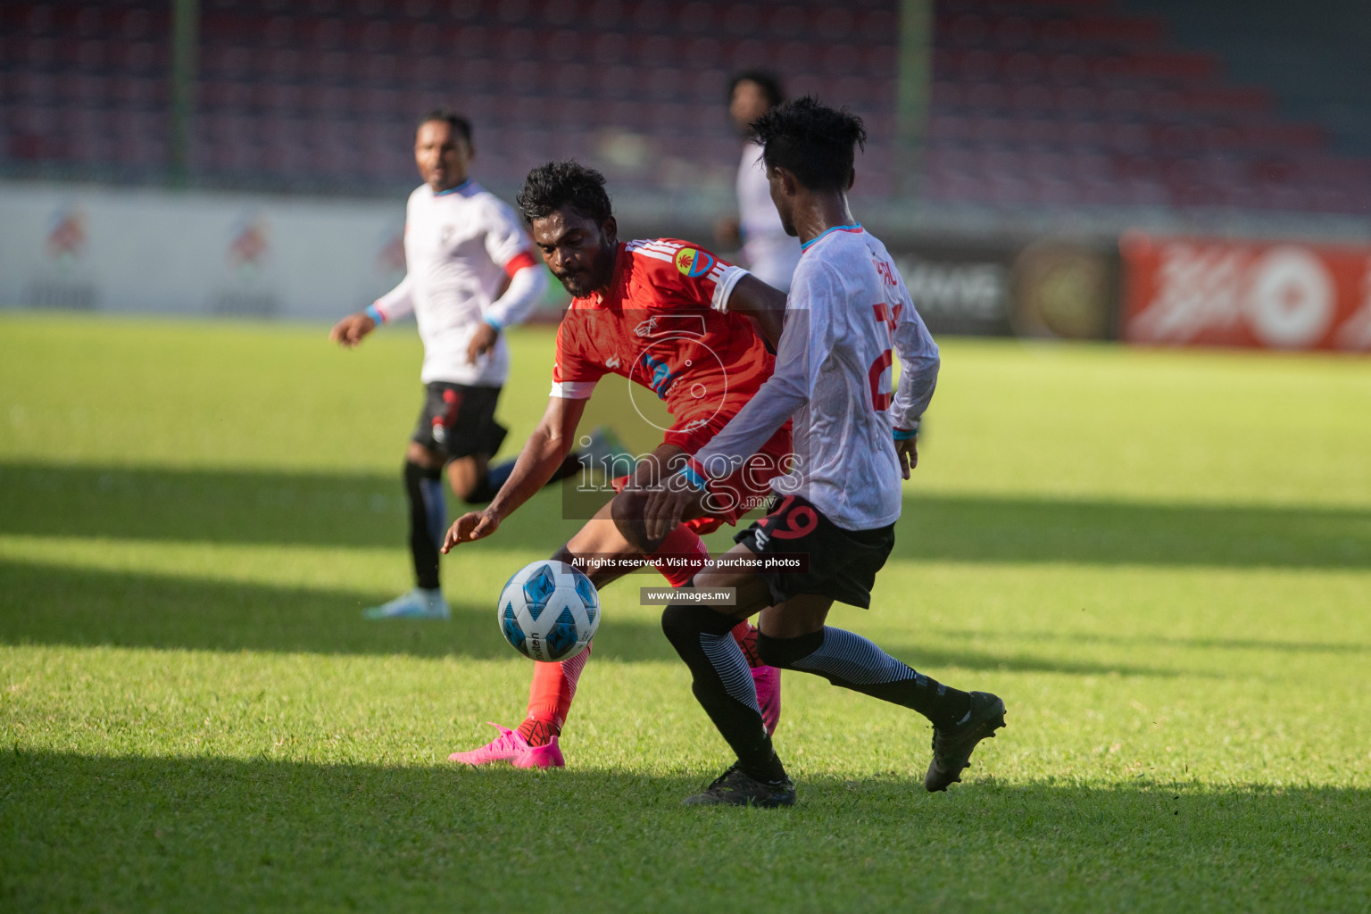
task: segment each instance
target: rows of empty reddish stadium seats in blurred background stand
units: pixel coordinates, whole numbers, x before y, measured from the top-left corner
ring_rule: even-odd
[[[738,155],[728,74],[764,67],[792,93],[861,114],[873,153],[858,192],[894,186],[884,147],[899,22],[879,0],[206,0],[200,25],[196,155],[250,181],[252,169],[271,169],[407,184],[413,164],[396,134],[439,103],[476,122],[483,170],[513,180],[535,153],[574,149],[591,162],[610,151],[616,174],[650,184],[651,170],[625,164],[646,148],[675,162],[677,185],[690,174],[724,181]],[[0,152],[165,159],[169,30],[160,7],[7,4]],[[1161,19],[1119,0],[939,0],[931,51],[925,186],[936,199],[1371,206],[1371,178],[1353,167],[1364,162],[1335,159],[1327,133],[1282,116],[1268,88],[1227,82],[1217,52],[1182,49]],[[100,123],[112,140],[96,136]],[[247,127],[270,136],[232,136]],[[145,129],[163,133],[137,138]],[[1190,166],[1172,174],[1179,158]],[[995,167],[1028,174],[991,180]]]

